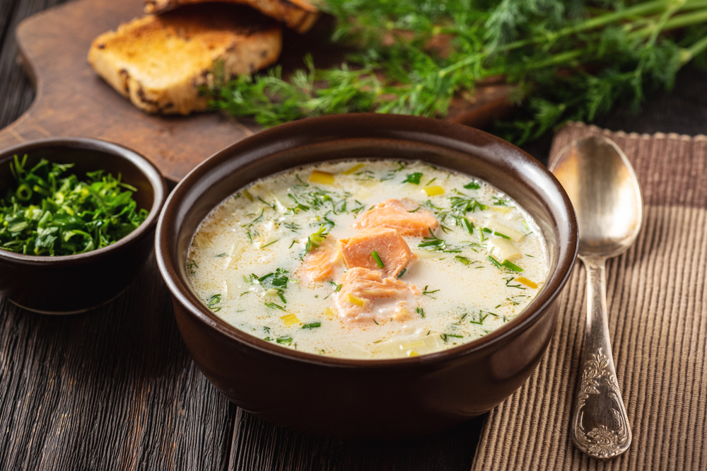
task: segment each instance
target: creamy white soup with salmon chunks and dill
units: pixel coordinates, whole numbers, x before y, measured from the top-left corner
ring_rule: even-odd
[[[187,269],[206,306],[250,335],[375,359],[501,327],[548,264],[530,215],[488,183],[423,162],[346,161],[233,194],[199,226]]]

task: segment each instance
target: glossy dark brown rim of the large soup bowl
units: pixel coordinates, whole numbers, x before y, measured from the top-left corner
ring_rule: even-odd
[[[397,128],[410,128],[414,126],[419,127],[423,125],[428,129],[436,129],[432,132],[427,132],[428,136],[440,137],[441,133],[443,134],[443,137],[451,137],[451,139],[460,140],[460,136],[458,134],[461,133],[467,137],[467,139],[469,139],[470,136],[474,136],[477,139],[481,138],[490,140],[495,144],[500,144],[506,149],[515,151],[521,158],[525,159],[526,165],[533,165],[537,168],[537,170],[540,170],[541,173],[544,173],[544,175],[553,184],[554,189],[558,192],[563,202],[563,208],[560,209],[560,213],[565,213],[567,216],[569,237],[567,247],[564,248],[564,250],[563,247],[559,247],[557,266],[554,273],[548,277],[545,288],[538,293],[534,300],[531,301],[531,305],[535,304],[532,311],[526,308],[520,313],[520,315],[501,327],[498,327],[498,329],[489,332],[489,334],[479,337],[478,339],[474,339],[470,342],[465,342],[464,344],[456,347],[451,347],[450,349],[444,349],[420,356],[395,359],[350,359],[310,354],[308,352],[286,349],[284,347],[280,347],[279,345],[274,345],[272,342],[267,342],[263,339],[247,334],[242,330],[238,330],[236,327],[228,324],[225,320],[218,318],[218,316],[206,308],[203,303],[199,303],[199,305],[192,303],[189,297],[185,295],[185,291],[189,292],[191,289],[189,283],[187,280],[182,280],[179,275],[180,267],[178,260],[171,259],[173,250],[170,249],[168,244],[170,240],[170,231],[167,229],[173,229],[173,238],[176,239],[178,230],[175,225],[174,216],[177,214],[178,205],[185,201],[185,197],[194,197],[194,195],[189,194],[192,183],[199,182],[201,178],[211,173],[212,167],[223,165],[226,161],[230,161],[230,159],[238,156],[240,151],[252,151],[253,149],[259,149],[266,145],[266,143],[271,144],[273,141],[285,142],[288,139],[293,138],[293,136],[301,136],[302,134],[306,134],[309,127],[316,127],[317,125],[338,124],[340,127],[345,128],[350,126],[349,123],[351,121],[361,124],[365,123],[366,126],[379,128],[391,124],[395,125]],[[440,142],[416,141],[414,137],[409,134],[411,129],[407,129],[407,131],[408,133],[399,132],[395,137],[389,136],[389,138],[401,141],[407,139],[408,141],[423,142],[424,144],[433,146],[444,146],[444,144]],[[370,136],[358,137],[361,137],[362,139],[373,139]],[[341,138],[335,140],[341,140]],[[284,149],[293,149],[293,147],[285,146]],[[271,153],[279,152],[281,150],[283,150],[283,148],[280,147]],[[196,202],[197,199],[198,197],[194,198],[190,204]],[[165,284],[172,293],[175,303],[179,303],[193,318],[202,324],[207,325],[211,329],[216,330],[219,334],[225,335],[230,341],[245,344],[247,348],[257,349],[264,353],[279,356],[281,358],[290,359],[293,361],[303,361],[308,364],[318,364],[321,366],[335,368],[415,368],[420,365],[435,364],[439,361],[448,361],[449,359],[473,355],[481,349],[493,348],[493,346],[501,344],[503,339],[506,339],[511,335],[515,335],[518,330],[523,330],[523,327],[526,325],[530,326],[537,322],[539,319],[539,314],[544,312],[544,310],[546,310],[549,305],[555,301],[556,297],[559,296],[559,293],[570,277],[578,252],[578,226],[574,209],[571,205],[569,197],[563,190],[560,183],[556,180],[556,178],[554,178],[554,175],[552,175],[552,173],[550,173],[549,170],[547,170],[547,167],[542,165],[542,163],[539,163],[539,161],[530,156],[528,153],[522,151],[513,144],[510,144],[508,141],[504,141],[503,139],[493,136],[492,134],[488,134],[479,129],[468,127],[463,124],[444,122],[426,117],[409,115],[382,115],[377,113],[349,113],[346,115],[327,115],[322,117],[305,118],[303,120],[280,124],[276,127],[265,129],[262,132],[254,134],[253,136],[249,136],[246,139],[238,141],[235,144],[231,144],[225,149],[221,149],[221,151],[214,153],[214,155],[210,156],[205,161],[197,165],[197,167],[192,169],[192,171],[189,172],[171,192],[160,214],[160,219],[158,221],[155,233],[155,243],[158,269],[165,280]],[[562,275],[559,276],[556,274]]]

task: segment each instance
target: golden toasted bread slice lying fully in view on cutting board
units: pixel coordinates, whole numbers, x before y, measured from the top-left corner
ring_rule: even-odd
[[[150,113],[205,110],[199,87],[251,74],[272,64],[282,49],[279,25],[251,8],[189,6],[145,16],[98,36],[88,63],[110,86]]]

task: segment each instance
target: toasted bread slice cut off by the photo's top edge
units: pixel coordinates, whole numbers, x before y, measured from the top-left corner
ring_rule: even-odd
[[[203,4],[212,0],[145,0],[146,13],[162,13],[186,4]],[[310,0],[216,0],[243,4],[285,23],[298,33],[305,33],[319,18],[319,10]]]

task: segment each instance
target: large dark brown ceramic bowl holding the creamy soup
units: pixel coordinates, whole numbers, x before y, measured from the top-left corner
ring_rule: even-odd
[[[356,360],[285,349],[231,327],[187,279],[187,248],[204,216],[248,183],[331,159],[421,159],[490,182],[523,202],[542,229],[549,277],[518,317],[481,339],[405,359]],[[494,136],[438,120],[335,115],[292,122],[240,141],[177,185],[160,216],[156,255],[182,337],[206,378],[258,417],[344,438],[428,434],[482,414],[522,385],[554,330],[574,264],[577,223],[542,164]]]

